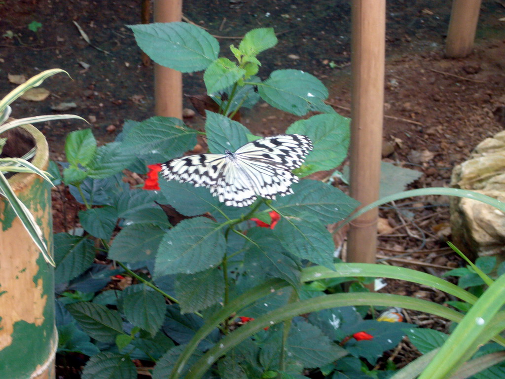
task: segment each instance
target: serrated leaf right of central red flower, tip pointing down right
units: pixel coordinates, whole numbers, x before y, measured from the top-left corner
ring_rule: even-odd
[[[330,232],[319,220],[282,218],[274,229],[277,238],[291,254],[334,269],[335,245]]]

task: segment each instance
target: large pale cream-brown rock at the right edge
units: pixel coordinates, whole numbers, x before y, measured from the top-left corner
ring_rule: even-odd
[[[484,139],[469,160],[456,166],[450,185],[505,202],[505,131]],[[505,215],[496,208],[453,197],[450,224],[453,242],[463,253],[472,257],[505,254]]]

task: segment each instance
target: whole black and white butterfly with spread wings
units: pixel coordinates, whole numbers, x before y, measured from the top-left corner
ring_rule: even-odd
[[[167,180],[210,188],[226,205],[245,207],[258,197],[292,194],[291,184],[298,177],[291,170],[300,167],[312,149],[305,135],[280,134],[249,142],[235,153],[172,159],[161,165],[161,173]]]

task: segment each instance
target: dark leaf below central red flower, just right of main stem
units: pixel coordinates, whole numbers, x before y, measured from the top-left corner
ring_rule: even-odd
[[[276,238],[273,231],[266,228],[251,228],[247,231],[244,267],[249,275],[280,277],[291,286],[299,286],[300,263],[291,257]]]

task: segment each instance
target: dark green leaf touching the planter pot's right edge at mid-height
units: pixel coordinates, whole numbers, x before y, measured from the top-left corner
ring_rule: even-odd
[[[54,235],[55,282],[63,283],[83,273],[93,263],[93,243],[87,238],[68,233]]]

